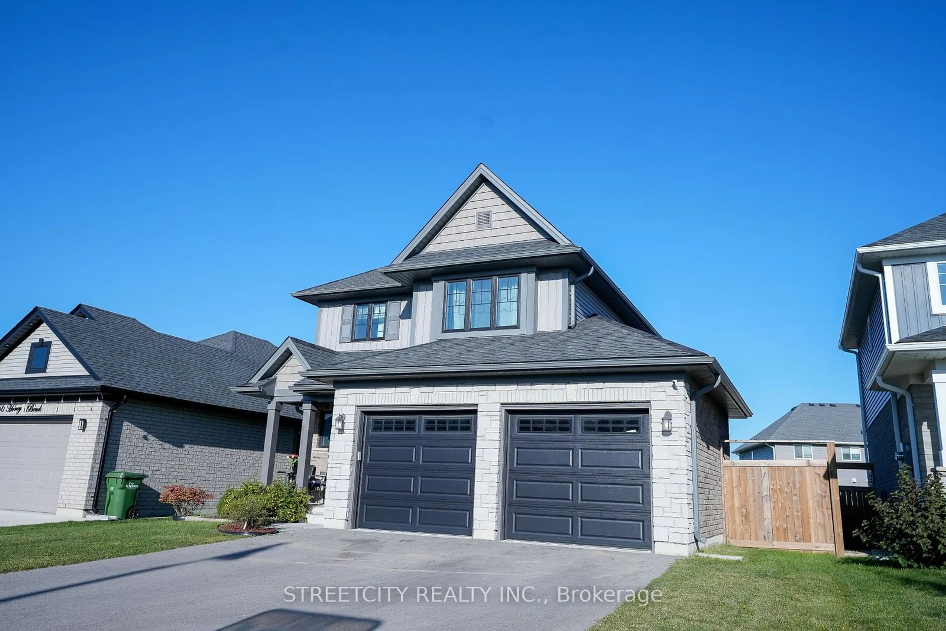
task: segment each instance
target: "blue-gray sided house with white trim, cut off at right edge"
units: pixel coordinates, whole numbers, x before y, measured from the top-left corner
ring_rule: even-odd
[[[879,492],[903,464],[943,466],[946,214],[857,248],[839,346],[857,357],[867,455]]]

